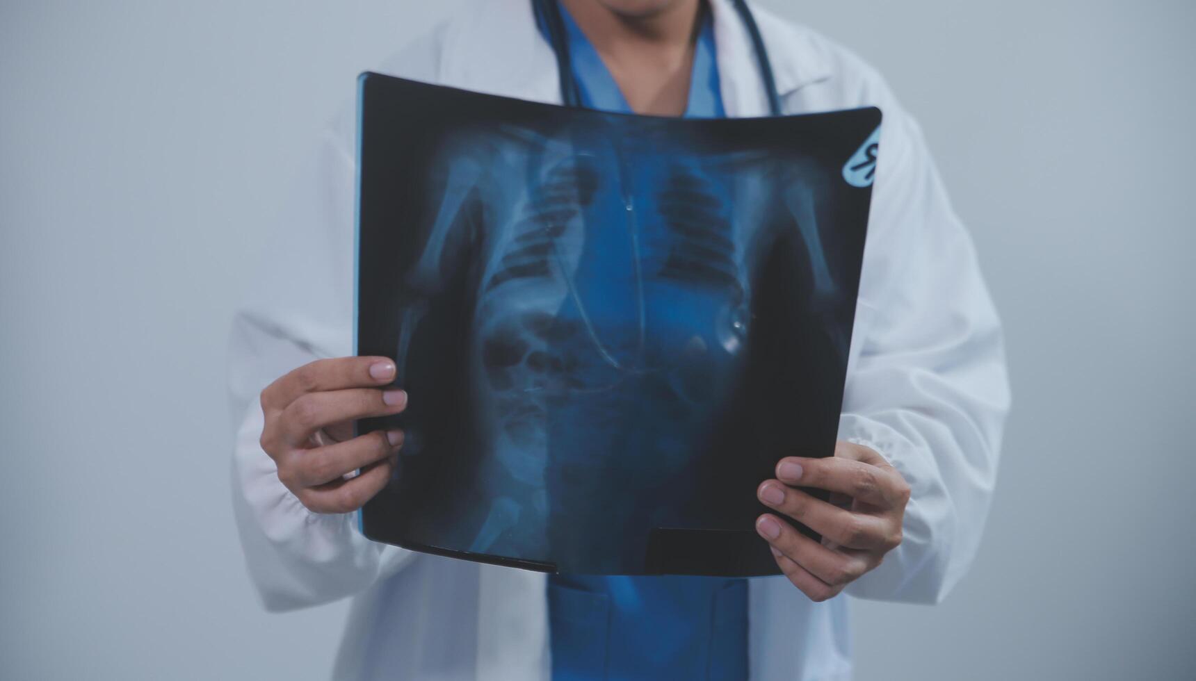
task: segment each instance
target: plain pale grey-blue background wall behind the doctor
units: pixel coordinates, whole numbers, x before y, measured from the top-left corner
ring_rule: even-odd
[[[856,602],[860,679],[1196,675],[1196,5],[765,2],[922,121],[1014,386],[970,576]],[[0,676],[321,679],[262,612],[222,378],[292,168],[459,2],[0,2]]]

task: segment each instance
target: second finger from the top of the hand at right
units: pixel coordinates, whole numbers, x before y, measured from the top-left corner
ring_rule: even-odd
[[[801,522],[840,546],[887,551],[901,541],[892,536],[895,533],[889,527],[891,519],[838,508],[801,490],[782,485],[779,480],[761,483],[756,496],[764,505]]]

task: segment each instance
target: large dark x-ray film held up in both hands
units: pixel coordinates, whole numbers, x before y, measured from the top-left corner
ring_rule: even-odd
[[[407,438],[365,534],[573,573],[775,573],[756,487],[834,452],[877,109],[604,114],[361,79],[359,355]]]

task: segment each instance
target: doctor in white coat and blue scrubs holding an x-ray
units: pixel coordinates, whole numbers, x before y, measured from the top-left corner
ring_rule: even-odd
[[[354,119],[341,116],[237,315],[230,355],[249,571],[275,611],[354,596],[337,679],[847,679],[836,595],[938,602],[959,581],[1008,407],[1002,337],[917,124],[874,70],[740,0],[486,0],[379,70],[665,116],[875,105],[885,123],[841,441],[831,459],[779,461],[757,489],[774,509],[757,532],[783,576],[581,579],[416,554],[358,532],[354,511],[385,484],[403,434],[353,438],[352,421],[398,412],[408,395],[378,389],[389,360],[348,357]]]

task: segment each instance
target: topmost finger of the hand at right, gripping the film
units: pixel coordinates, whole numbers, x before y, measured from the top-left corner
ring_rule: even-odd
[[[881,508],[904,505],[902,495],[908,489],[905,480],[892,467],[883,468],[838,456],[787,456],[777,462],[776,477],[787,485],[840,492]]]

